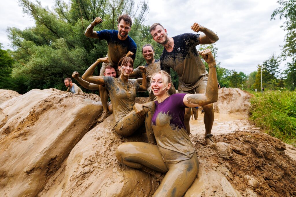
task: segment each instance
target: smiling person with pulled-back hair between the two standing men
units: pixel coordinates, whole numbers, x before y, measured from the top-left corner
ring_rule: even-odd
[[[153,49],[153,46],[151,44],[145,44],[143,47],[142,47],[142,54],[143,54],[143,57],[146,61],[146,64],[145,64],[145,69],[146,69],[146,75],[147,75],[147,84],[148,84],[148,87],[150,87],[150,78],[151,76],[156,73],[157,71],[160,71],[160,61],[159,60],[155,60],[154,59],[154,49]],[[134,69],[133,70],[133,73],[130,75],[130,78],[139,78],[139,77],[142,77],[142,74],[141,74],[141,71],[140,71],[140,68],[143,68],[143,66],[139,66],[138,68]],[[176,89],[173,85],[172,82],[170,82],[171,85],[171,88],[169,90],[169,94],[172,95],[172,94],[176,94]],[[155,100],[155,96],[152,92],[149,92],[149,97],[150,97],[150,100]]]

